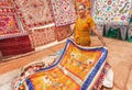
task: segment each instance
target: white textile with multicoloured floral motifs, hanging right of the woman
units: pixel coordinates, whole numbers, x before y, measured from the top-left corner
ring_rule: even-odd
[[[96,22],[127,25],[131,0],[94,0],[92,18]]]

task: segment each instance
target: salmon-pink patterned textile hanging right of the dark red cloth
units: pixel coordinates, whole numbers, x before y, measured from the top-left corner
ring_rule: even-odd
[[[45,44],[56,41],[54,26],[46,29],[31,30],[29,32],[33,47],[43,46]]]

